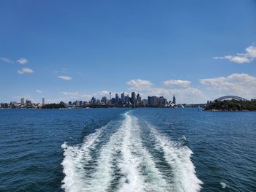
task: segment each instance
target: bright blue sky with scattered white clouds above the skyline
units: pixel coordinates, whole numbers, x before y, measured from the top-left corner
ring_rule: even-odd
[[[0,2],[0,102],[256,98],[256,1]]]

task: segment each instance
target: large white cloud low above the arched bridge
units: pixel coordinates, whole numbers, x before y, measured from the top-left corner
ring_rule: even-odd
[[[230,74],[227,77],[202,79],[199,82],[206,86],[208,93],[214,97],[236,95],[252,99],[256,96],[256,77],[249,74]]]

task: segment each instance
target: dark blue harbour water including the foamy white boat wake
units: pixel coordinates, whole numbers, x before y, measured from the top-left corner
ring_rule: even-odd
[[[256,191],[256,112],[0,110],[0,191]]]

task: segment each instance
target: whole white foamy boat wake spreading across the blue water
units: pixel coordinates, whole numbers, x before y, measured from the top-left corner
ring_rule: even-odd
[[[108,133],[110,126],[115,128]],[[145,134],[148,131],[150,135]],[[145,137],[146,136],[146,137]],[[151,147],[146,143],[150,139]],[[81,145],[64,142],[65,191],[200,191],[192,151],[131,115],[97,129]]]

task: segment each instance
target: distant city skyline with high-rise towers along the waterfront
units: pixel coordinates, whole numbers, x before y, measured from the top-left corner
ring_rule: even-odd
[[[181,105],[181,104],[179,104]],[[42,98],[41,103],[34,103],[24,97],[18,101],[0,102],[0,109],[2,108],[62,108],[62,107],[175,107],[176,96],[173,95],[173,100],[168,101],[164,96],[148,96],[143,99],[139,93],[132,92],[129,94],[115,93],[114,97],[111,97],[109,93],[109,99],[107,96],[102,96],[102,99],[95,98],[94,96],[89,101],[76,100],[76,101],[60,101],[57,103],[45,103],[45,98]]]

